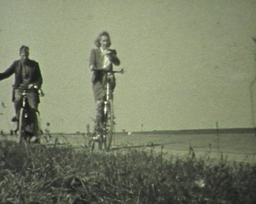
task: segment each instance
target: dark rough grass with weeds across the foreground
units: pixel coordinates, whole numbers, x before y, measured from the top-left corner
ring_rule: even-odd
[[[256,203],[256,167],[0,141],[0,203]]]

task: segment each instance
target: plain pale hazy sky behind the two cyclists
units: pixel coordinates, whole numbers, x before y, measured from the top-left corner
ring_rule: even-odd
[[[90,49],[108,31],[125,69],[117,131],[252,127],[255,22],[256,0],[0,0],[0,72],[29,46],[44,77],[43,127],[84,132],[95,109]],[[0,82],[3,129],[13,82]]]

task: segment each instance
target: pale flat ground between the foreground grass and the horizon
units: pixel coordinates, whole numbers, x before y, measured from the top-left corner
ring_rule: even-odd
[[[9,137],[15,139],[14,136]],[[82,148],[88,144],[83,135],[54,134],[48,145],[55,139],[61,144],[73,144]],[[45,144],[43,135],[42,143]],[[170,156],[188,156],[189,145],[196,157],[208,156],[212,162],[220,160],[221,155],[228,161],[256,162],[256,137],[253,134],[114,134],[112,151],[154,148],[163,152],[166,159]]]

